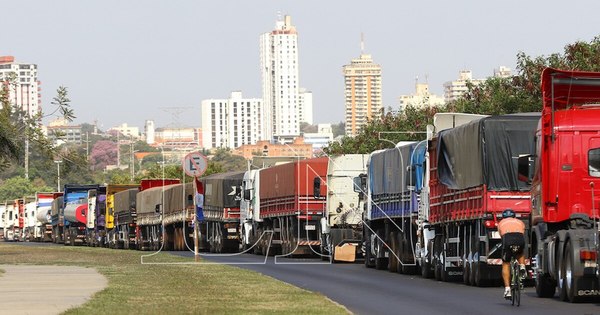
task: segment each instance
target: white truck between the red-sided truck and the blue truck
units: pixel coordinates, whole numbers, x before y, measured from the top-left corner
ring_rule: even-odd
[[[332,262],[363,256],[363,211],[367,154],[330,156],[325,216],[321,218],[321,253]],[[327,256],[322,256],[326,258]]]

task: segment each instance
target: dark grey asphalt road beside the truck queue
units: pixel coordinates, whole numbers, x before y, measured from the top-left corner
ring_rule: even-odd
[[[193,256],[193,253],[178,252]],[[279,258],[243,254],[203,259],[258,271],[306,290],[320,292],[355,314],[600,314],[600,303],[570,304],[558,298],[536,297],[525,288],[521,306],[502,298],[501,287],[478,288],[419,276],[367,269],[362,264],[323,264],[317,259]]]

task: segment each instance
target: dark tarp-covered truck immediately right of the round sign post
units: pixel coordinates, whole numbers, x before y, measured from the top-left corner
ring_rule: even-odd
[[[240,248],[240,201],[245,172],[227,172],[200,178],[204,185],[204,222],[201,238],[212,253]]]

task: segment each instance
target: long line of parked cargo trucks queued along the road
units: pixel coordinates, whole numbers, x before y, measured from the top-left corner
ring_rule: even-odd
[[[199,182],[65,185],[0,205],[5,240],[313,255],[480,286],[500,280],[498,221],[526,224],[537,295],[600,296],[600,73],[546,69],[541,113],[437,114],[422,141],[295,159]],[[198,189],[202,187],[202,189]],[[557,290],[558,288],[558,290]]]

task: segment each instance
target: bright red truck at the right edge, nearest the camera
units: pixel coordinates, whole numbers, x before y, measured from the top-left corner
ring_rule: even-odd
[[[542,72],[535,155],[519,158],[531,181],[536,293],[577,302],[600,297],[600,73]]]

